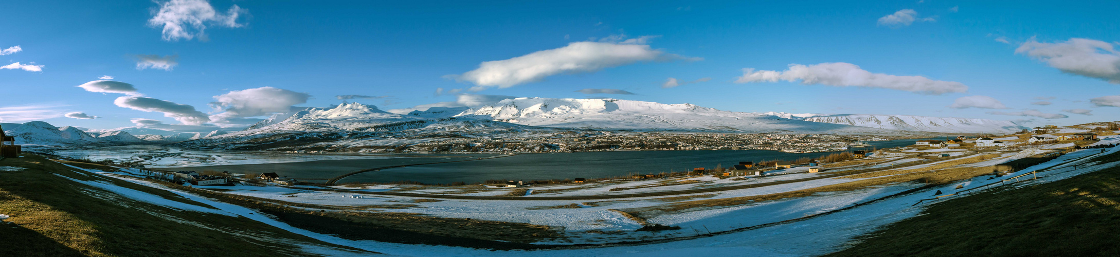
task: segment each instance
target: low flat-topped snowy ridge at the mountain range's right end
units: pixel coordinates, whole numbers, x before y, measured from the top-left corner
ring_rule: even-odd
[[[805,121],[899,131],[942,133],[1011,133],[1026,126],[1009,121],[909,115],[837,114],[808,117]]]

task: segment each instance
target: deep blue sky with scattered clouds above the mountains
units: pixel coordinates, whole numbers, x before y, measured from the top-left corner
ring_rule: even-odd
[[[213,15],[199,17],[206,8]],[[1110,1],[13,1],[0,9],[9,21],[0,49],[19,46],[0,56],[9,67],[0,118],[235,126],[292,105],[335,105],[338,95],[375,96],[348,101],[383,110],[501,95],[1029,126],[1116,121],[1118,11]],[[169,37],[167,22],[185,34]],[[479,69],[483,61],[497,63]],[[832,63],[870,75],[838,75]],[[791,64],[808,72],[782,74]],[[744,79],[744,68],[776,73]],[[105,75],[136,92],[75,87]],[[665,88],[669,78],[680,85]],[[634,94],[576,92],[585,88]],[[177,108],[156,106],[168,103]],[[183,118],[181,105],[217,116]],[[97,118],[63,116],[74,112]]]

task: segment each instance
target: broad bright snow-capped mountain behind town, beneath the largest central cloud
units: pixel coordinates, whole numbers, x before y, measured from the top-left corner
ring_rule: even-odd
[[[693,104],[661,104],[612,98],[522,97],[470,108],[456,116],[485,118],[530,126],[590,130],[833,134],[890,133],[883,130],[850,125],[805,122],[769,114],[719,111]]]

